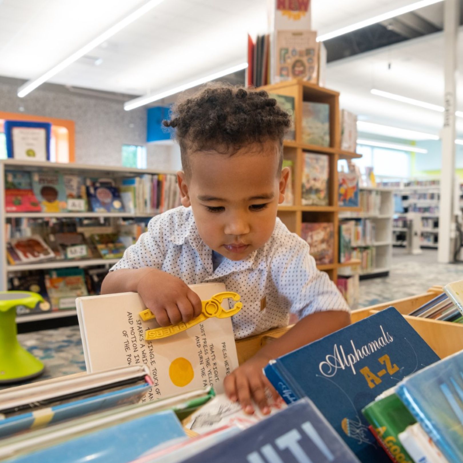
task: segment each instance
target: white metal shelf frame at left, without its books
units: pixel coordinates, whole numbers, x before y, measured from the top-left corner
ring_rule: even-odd
[[[24,265],[8,265],[6,259],[5,223],[7,219],[70,219],[70,218],[150,218],[153,214],[131,213],[98,213],[98,212],[63,212],[63,213],[6,213],[5,210],[5,170],[25,170],[29,172],[59,172],[61,174],[82,175],[84,177],[106,177],[120,179],[144,174],[175,174],[174,171],[160,171],[147,169],[134,169],[125,167],[108,167],[105,165],[91,164],[62,164],[50,162],[27,162],[14,159],[0,161],[0,290],[7,289],[8,275],[13,272],[40,269],[63,269],[70,267],[90,267],[96,265],[110,266],[119,259],[82,259],[66,261],[50,261]],[[75,310],[63,310],[62,312],[31,313],[17,317],[18,323],[38,321],[44,319],[69,317],[76,314]]]

